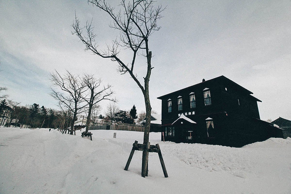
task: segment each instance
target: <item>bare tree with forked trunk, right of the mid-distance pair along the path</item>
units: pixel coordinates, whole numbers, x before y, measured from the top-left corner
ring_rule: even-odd
[[[111,98],[110,96],[113,94],[111,90],[111,85],[101,87],[102,79],[95,79],[94,75],[84,74],[83,77],[84,85],[88,88],[90,97],[83,97],[83,99],[88,103],[88,116],[86,122],[86,134],[89,130],[90,118],[91,118],[91,110],[92,107],[95,106],[98,102],[102,100],[110,100],[116,102],[116,99]],[[88,96],[88,95],[87,95]]]

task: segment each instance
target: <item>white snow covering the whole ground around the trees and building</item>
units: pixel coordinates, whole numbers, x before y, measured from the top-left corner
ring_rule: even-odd
[[[83,131],[83,130],[82,130]],[[116,138],[113,138],[116,132]],[[0,193],[291,193],[291,138],[270,138],[242,148],[159,143],[141,177],[142,152],[123,170],[143,133],[95,130],[93,141],[57,130],[0,128]]]

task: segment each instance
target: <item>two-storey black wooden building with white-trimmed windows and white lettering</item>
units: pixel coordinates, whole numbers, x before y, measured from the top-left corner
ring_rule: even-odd
[[[241,147],[282,138],[282,129],[260,120],[257,102],[262,101],[251,94],[219,76],[158,97],[162,100],[162,140]]]

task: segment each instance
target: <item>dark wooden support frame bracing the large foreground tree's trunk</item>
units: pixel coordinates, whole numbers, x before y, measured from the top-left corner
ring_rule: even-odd
[[[159,154],[159,159],[160,159],[160,162],[161,162],[161,165],[162,165],[162,169],[163,169],[163,172],[164,172],[164,176],[165,176],[165,178],[168,177],[168,173],[167,173],[167,170],[166,170],[166,166],[165,166],[165,163],[164,163],[162,152],[161,152],[161,149],[160,149],[160,146],[159,146],[158,143],[156,145],[150,145],[150,142],[148,142],[147,144],[140,144],[140,143],[138,143],[138,141],[134,141],[134,143],[132,144],[132,150],[131,150],[131,152],[129,154],[129,157],[128,157],[128,160],[127,160],[127,163],[125,165],[124,170],[128,170],[129,164],[131,162],[131,159],[132,159],[132,156],[133,156],[135,150],[145,152],[143,154],[143,157],[146,157],[147,160],[148,160],[148,153],[149,152],[158,153]],[[142,166],[141,176],[142,177],[147,177],[148,176],[148,165],[142,164],[141,166]]]

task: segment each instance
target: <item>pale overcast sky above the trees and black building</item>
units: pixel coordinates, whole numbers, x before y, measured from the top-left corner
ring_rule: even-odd
[[[149,40],[155,111],[161,112],[157,97],[224,75],[262,100],[262,120],[291,120],[291,1],[157,3],[167,7],[162,28]],[[144,110],[142,92],[129,74],[120,75],[116,63],[85,52],[71,34],[75,11],[83,24],[93,18],[100,47],[116,38],[110,18],[86,1],[0,1],[0,86],[22,105],[56,108],[48,95],[50,72],[92,73],[113,86],[121,110],[134,104]],[[141,80],[146,60],[136,65]]]

